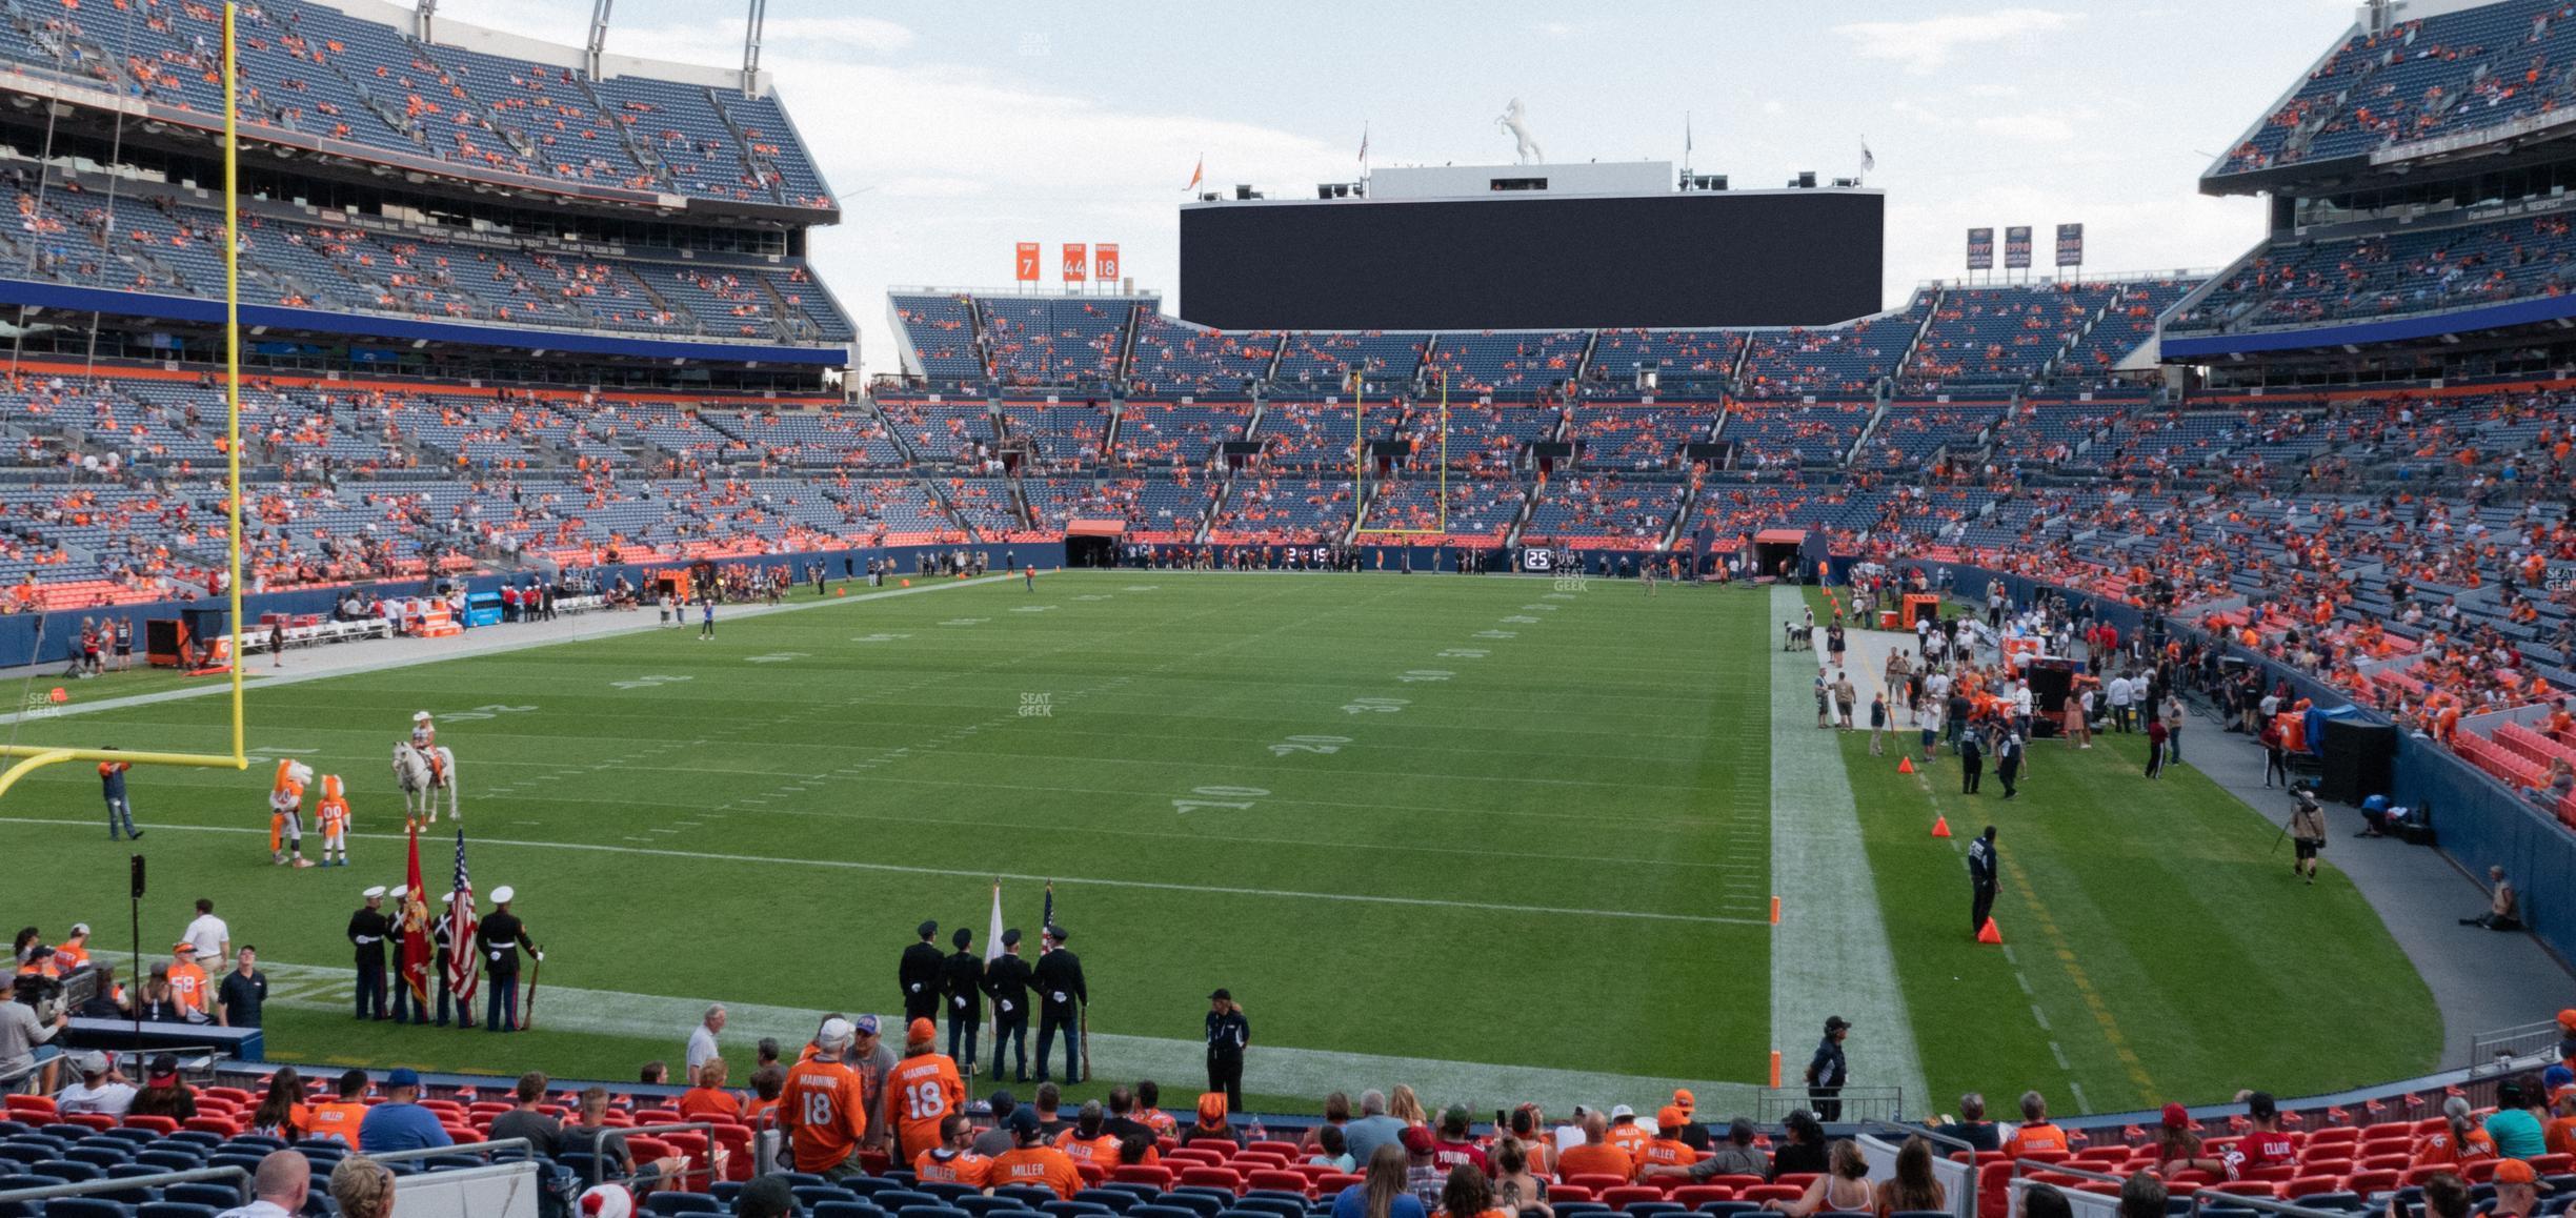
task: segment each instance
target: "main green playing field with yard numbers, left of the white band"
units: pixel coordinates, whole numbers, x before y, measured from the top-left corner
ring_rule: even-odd
[[[1762,600],[1728,590],[1072,572],[719,618],[716,641],[690,626],[270,685],[250,693],[252,747],[348,778],[358,865],[270,868],[265,773],[137,773],[139,819],[162,829],[147,945],[214,896],[268,958],[345,966],[358,888],[399,881],[389,749],[428,708],[459,757],[474,878],[520,888],[567,991],[886,1009],[917,919],[981,935],[1005,876],[1010,922],[1036,930],[1056,878],[1095,1033],[1195,1040],[1224,984],[1255,1063],[1306,1048],[1757,1079],[1765,639]],[[216,747],[222,700],[21,736]],[[121,922],[124,847],[88,767],[21,783],[0,852],[46,870],[15,888],[21,922]],[[430,883],[451,855],[440,824]],[[595,1061],[556,1038],[523,1061],[459,1033],[397,1053],[402,1033],[332,1027],[281,1012],[273,1053]],[[1118,1040],[1100,1048],[1103,1084],[1133,1074]],[[1479,1079],[1409,1082],[1520,1100]],[[1334,1087],[1386,1082],[1404,1079]]]

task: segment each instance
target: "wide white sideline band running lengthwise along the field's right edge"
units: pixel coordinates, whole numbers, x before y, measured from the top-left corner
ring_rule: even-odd
[[[1798,621],[1803,610],[1806,597],[1795,587],[1772,587],[1777,621]],[[1896,1084],[1909,1112],[1932,1112],[1937,1102],[1924,1087],[1914,1025],[1906,1022],[1839,731],[1811,726],[1824,659],[1821,646],[1772,651],[1772,886],[1780,894],[1772,1045],[1780,1051],[1780,1082],[1801,1084],[1826,1015],[1842,1015],[1852,1020],[1852,1084]]]

